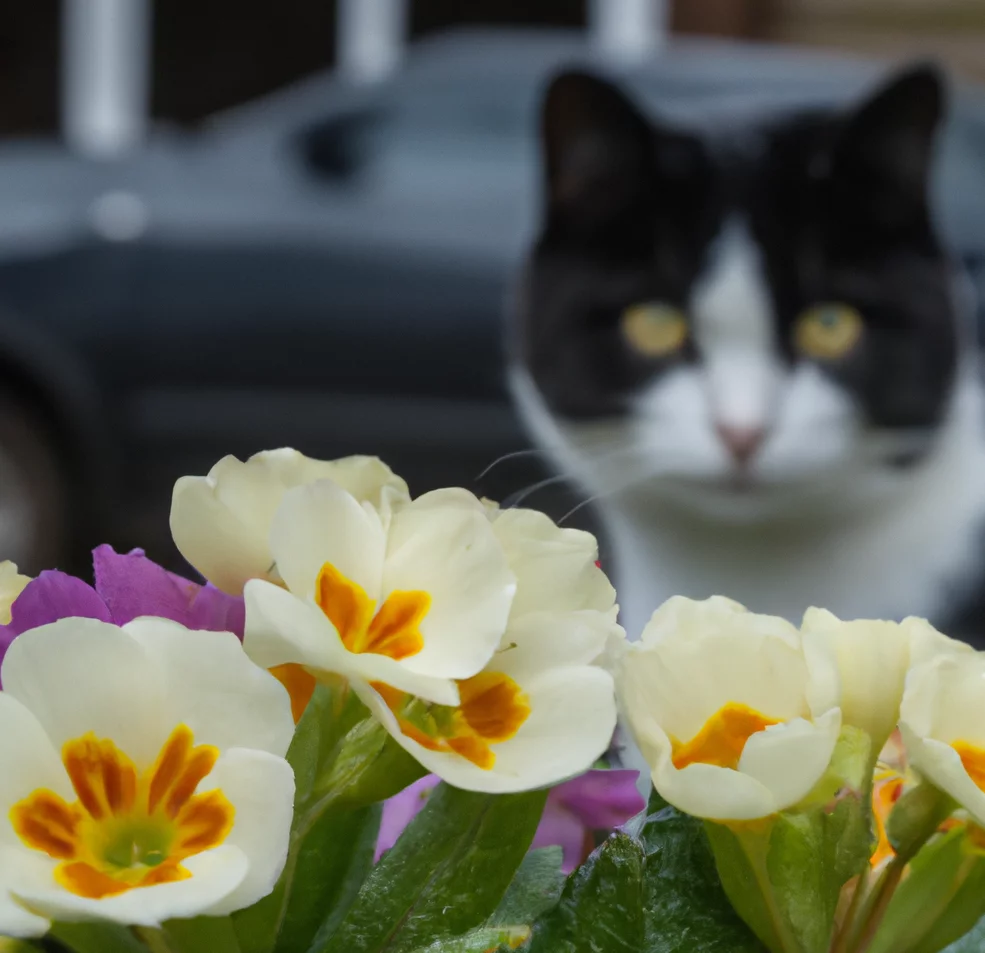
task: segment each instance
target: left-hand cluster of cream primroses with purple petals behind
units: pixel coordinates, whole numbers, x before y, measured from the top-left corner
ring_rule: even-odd
[[[293,450],[179,480],[171,525],[204,584],[109,546],[92,586],[0,564],[0,934],[224,917],[270,894],[333,797],[425,771],[530,791],[608,748],[598,661],[623,634],[589,534]],[[342,754],[302,790],[292,739],[319,684]]]

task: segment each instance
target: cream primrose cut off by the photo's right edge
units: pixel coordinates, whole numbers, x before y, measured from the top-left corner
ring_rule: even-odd
[[[900,732],[910,765],[985,825],[985,654],[938,655],[912,669]]]

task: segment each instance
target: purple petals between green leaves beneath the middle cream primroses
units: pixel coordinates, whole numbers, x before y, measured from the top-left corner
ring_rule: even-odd
[[[560,846],[564,852],[562,869],[571,873],[594,849],[595,831],[609,831],[643,810],[637,777],[636,771],[589,771],[559,784],[547,797],[532,846]],[[377,860],[393,847],[439,783],[440,778],[429,774],[383,805]]]

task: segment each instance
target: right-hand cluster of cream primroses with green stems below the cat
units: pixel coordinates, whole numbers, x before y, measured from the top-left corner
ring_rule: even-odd
[[[950,883],[954,874],[956,892],[969,858],[982,856],[985,654],[922,619],[843,622],[810,609],[798,629],[722,597],[678,597],[640,642],[623,646],[616,667],[654,787],[705,820],[730,899],[771,950],[910,949],[904,933],[913,949],[946,945],[921,945],[906,908],[928,878]],[[798,911],[785,909],[782,880],[802,869],[812,837],[828,836],[832,815],[851,811],[855,833],[847,825],[835,847],[854,854],[853,876],[830,878],[813,945]],[[799,825],[797,836],[784,825]],[[960,874],[939,848],[956,829]],[[755,897],[735,882],[736,849],[769,871]],[[894,896],[904,881],[906,896]],[[755,910],[763,892],[779,925]],[[950,940],[985,902],[976,897],[969,911]],[[923,928],[933,926],[928,916]]]

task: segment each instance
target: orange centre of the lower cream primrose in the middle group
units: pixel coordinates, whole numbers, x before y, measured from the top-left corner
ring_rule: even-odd
[[[501,672],[480,672],[458,682],[457,706],[435,705],[389,685],[373,688],[394,713],[400,730],[429,751],[460,755],[483,770],[496,764],[490,745],[509,741],[530,717],[530,701]]]

